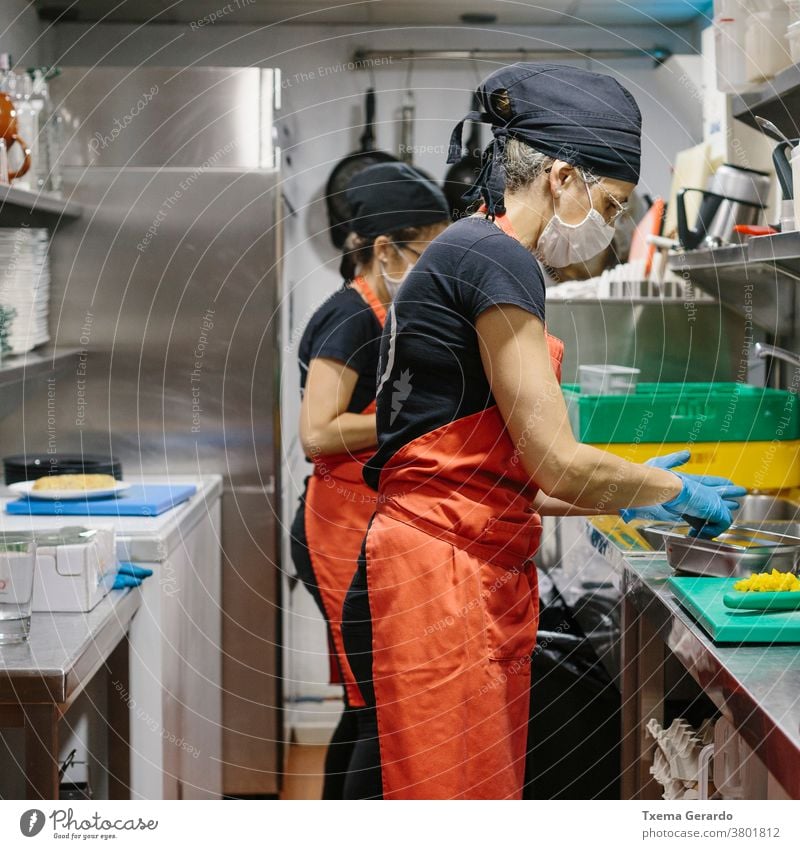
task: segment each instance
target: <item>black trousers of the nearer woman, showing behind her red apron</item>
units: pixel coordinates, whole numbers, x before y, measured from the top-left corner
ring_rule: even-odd
[[[369,533],[369,529],[367,529]],[[366,537],[365,537],[366,541]],[[364,546],[342,611],[342,637],[350,669],[367,703],[358,715],[358,737],[345,782],[345,799],[382,799],[378,713],[372,683],[372,615],[367,594]]]

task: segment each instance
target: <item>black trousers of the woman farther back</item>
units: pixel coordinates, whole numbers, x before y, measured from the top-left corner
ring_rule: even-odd
[[[311,563],[311,555],[308,551],[305,516],[306,498],[304,494],[300,499],[300,507],[295,514],[294,521],[292,522],[292,560],[294,561],[294,567],[297,571],[298,579],[311,593],[320,613],[325,619],[325,624],[328,628],[328,637],[330,638],[330,622],[327,614],[325,613],[325,606],[322,603],[322,595],[319,591],[317,576],[314,573],[314,567]],[[342,716],[333,732],[333,737],[331,738],[331,742],[328,745],[328,751],[325,755],[325,780],[322,787],[323,799],[346,798],[344,795],[345,783],[348,774],[350,773],[350,763],[353,759],[356,743],[359,739],[361,727],[360,715],[365,710],[365,708],[353,707],[349,704],[347,700],[347,691],[345,690],[344,710],[342,711]],[[374,714],[374,708],[372,713]]]

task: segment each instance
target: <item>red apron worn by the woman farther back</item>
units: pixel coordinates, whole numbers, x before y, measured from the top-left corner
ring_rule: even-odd
[[[386,309],[361,277],[353,286],[370,305],[383,327]],[[362,415],[375,412],[375,401],[362,410]],[[364,531],[375,511],[376,493],[370,489],[362,471],[374,454],[368,448],[355,454],[337,454],[314,458],[314,474],[306,492],[306,543],[317,579],[325,615],[330,626],[333,650],[341,670],[347,700],[352,707],[363,707],[342,642],[342,605],[361,553]],[[332,671],[334,664],[331,664]],[[331,676],[331,682],[336,681]]]

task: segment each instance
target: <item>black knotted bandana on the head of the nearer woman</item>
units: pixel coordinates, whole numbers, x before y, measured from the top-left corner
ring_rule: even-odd
[[[496,96],[500,92],[508,108]],[[502,161],[508,138],[598,177],[639,182],[642,116],[633,95],[613,77],[569,65],[519,62],[489,75],[477,94],[482,111],[470,112],[456,125],[447,161],[461,157],[464,121],[491,124],[494,141],[464,195],[482,197],[489,215],[505,210]]]

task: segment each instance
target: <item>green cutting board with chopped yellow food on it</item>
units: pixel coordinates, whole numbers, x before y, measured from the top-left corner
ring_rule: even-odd
[[[800,643],[800,610],[732,610],[722,597],[740,578],[669,578],[678,601],[715,643]]]

